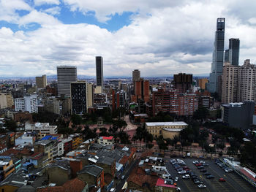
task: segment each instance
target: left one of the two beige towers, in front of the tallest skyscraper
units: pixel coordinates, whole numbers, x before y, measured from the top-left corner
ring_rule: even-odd
[[[238,66],[225,63],[222,71],[222,103],[238,101]]]

